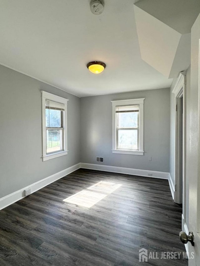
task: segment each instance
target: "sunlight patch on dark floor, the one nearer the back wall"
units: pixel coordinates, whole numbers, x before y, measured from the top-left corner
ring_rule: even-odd
[[[101,193],[110,194],[116,189],[118,189],[120,186],[122,185],[112,183],[112,182],[100,181],[97,184],[88,187],[87,189],[94,190],[94,191],[101,192]]]

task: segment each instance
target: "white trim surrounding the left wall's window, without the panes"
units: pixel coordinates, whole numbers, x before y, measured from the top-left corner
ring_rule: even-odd
[[[42,94],[42,161],[47,161],[56,157],[60,157],[68,154],[67,145],[67,102],[68,99],[54,95],[52,93],[41,90]],[[63,112],[63,151],[47,154],[47,135],[46,135],[46,99],[52,100],[65,105],[65,111]]]

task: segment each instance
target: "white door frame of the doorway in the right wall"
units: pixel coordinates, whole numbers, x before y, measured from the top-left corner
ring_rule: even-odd
[[[174,93],[174,104],[175,104],[175,162],[174,162],[174,177],[175,177],[175,191],[174,191],[174,202],[183,203],[183,214],[182,214],[182,226],[185,223],[185,200],[186,200],[186,71],[180,72],[177,82],[173,88]],[[183,178],[180,177],[180,101],[183,97]],[[181,185],[183,183],[183,189]]]

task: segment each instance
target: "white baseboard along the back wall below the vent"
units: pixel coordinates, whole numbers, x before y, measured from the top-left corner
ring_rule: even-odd
[[[161,179],[169,178],[169,173],[166,173],[166,172],[140,170],[140,169],[134,169],[134,168],[125,168],[125,167],[100,165],[100,164],[92,164],[92,163],[84,163],[84,162],[80,163],[80,168],[142,176],[142,177],[154,177],[154,178],[161,178]],[[148,173],[152,173],[152,176],[149,176]]]

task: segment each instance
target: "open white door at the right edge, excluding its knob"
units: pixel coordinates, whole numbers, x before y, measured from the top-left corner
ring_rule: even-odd
[[[200,265],[200,14],[191,31],[191,93],[189,151],[189,231],[195,245],[189,243],[189,266]]]

